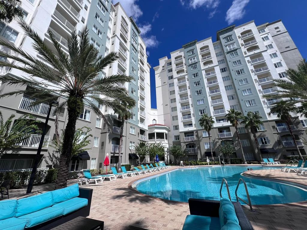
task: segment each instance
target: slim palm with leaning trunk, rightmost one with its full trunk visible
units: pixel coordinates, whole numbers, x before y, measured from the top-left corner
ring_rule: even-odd
[[[277,113],[277,117],[280,118],[283,121],[286,121],[287,127],[290,132],[290,136],[292,137],[293,143],[296,147],[296,150],[298,152],[298,155],[301,160],[303,160],[303,156],[301,155],[301,151],[297,146],[297,142],[295,140],[295,136],[293,134],[293,130],[291,128],[291,112],[296,112],[297,111],[297,106],[296,105],[289,105],[285,101],[280,101],[275,103],[275,105],[271,108],[270,114],[271,113]]]

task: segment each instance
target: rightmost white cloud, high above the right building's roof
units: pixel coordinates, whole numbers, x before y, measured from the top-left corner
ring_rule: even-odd
[[[232,2],[231,7],[227,10],[225,18],[228,25],[233,23],[235,20],[241,19],[244,16],[244,7],[247,5],[248,2],[249,0],[234,0]]]

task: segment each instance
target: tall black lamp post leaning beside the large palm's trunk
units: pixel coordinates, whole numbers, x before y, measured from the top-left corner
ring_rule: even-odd
[[[31,176],[30,176],[30,180],[29,180],[29,184],[28,184],[28,188],[27,188],[27,193],[31,193],[31,191],[32,191],[34,178],[35,178],[35,174],[36,174],[36,171],[37,171],[37,166],[38,166],[38,163],[39,163],[39,160],[40,160],[41,148],[43,147],[43,144],[44,144],[44,138],[45,138],[45,133],[46,133],[46,129],[47,129],[48,121],[49,121],[51,107],[57,106],[57,105],[59,105],[59,102],[57,102],[57,101],[52,101],[52,102],[49,103],[49,109],[48,109],[44,129],[43,129],[43,132],[41,134],[41,140],[39,142],[37,153],[36,153],[36,156],[35,156],[34,166],[32,168],[32,172],[31,172]]]

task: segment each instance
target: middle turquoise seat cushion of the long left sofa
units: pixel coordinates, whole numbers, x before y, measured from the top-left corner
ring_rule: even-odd
[[[48,220],[52,220],[56,217],[62,216],[63,211],[64,209],[60,207],[49,207],[49,208],[42,209],[34,213],[24,215],[22,217],[18,217],[18,219],[25,220],[26,228],[30,228],[37,224],[41,224]]]

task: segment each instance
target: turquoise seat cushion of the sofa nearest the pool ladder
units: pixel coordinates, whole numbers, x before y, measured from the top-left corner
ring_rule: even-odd
[[[218,217],[204,217],[188,215],[182,230],[220,230],[220,220]]]

